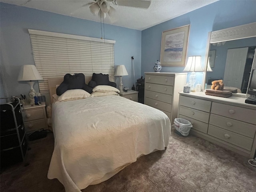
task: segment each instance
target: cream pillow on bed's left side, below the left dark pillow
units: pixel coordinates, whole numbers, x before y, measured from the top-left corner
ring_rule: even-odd
[[[70,89],[66,90],[61,96],[58,97],[58,101],[74,100],[88,98],[91,94],[82,89]]]

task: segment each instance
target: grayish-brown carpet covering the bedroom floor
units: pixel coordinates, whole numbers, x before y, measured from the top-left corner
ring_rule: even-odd
[[[52,134],[30,142],[26,162],[2,170],[1,192],[64,192],[47,178]],[[109,180],[82,192],[255,192],[256,167],[248,158],[195,136],[172,131],[166,150],[140,157]]]

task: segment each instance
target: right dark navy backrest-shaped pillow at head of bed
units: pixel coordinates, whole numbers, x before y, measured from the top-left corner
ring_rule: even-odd
[[[92,88],[94,88],[97,85],[109,85],[116,88],[116,83],[109,81],[108,74],[104,75],[102,73],[92,74],[92,80],[88,83],[88,85]]]

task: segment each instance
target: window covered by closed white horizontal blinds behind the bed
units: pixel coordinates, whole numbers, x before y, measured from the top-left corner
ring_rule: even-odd
[[[114,40],[28,30],[34,61],[44,80],[38,81],[40,93],[49,93],[49,78],[65,74],[109,74],[114,79]]]

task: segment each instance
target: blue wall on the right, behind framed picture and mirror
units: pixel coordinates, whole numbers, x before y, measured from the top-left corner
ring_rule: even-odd
[[[208,32],[256,22],[255,0],[220,0],[142,31],[141,72],[154,72],[160,60],[162,31],[190,24],[187,57],[202,56],[204,65]],[[183,72],[184,67],[163,66],[161,72]],[[196,82],[202,82],[197,72]],[[188,73],[189,79],[190,72]],[[188,81],[187,79],[187,81]]]

